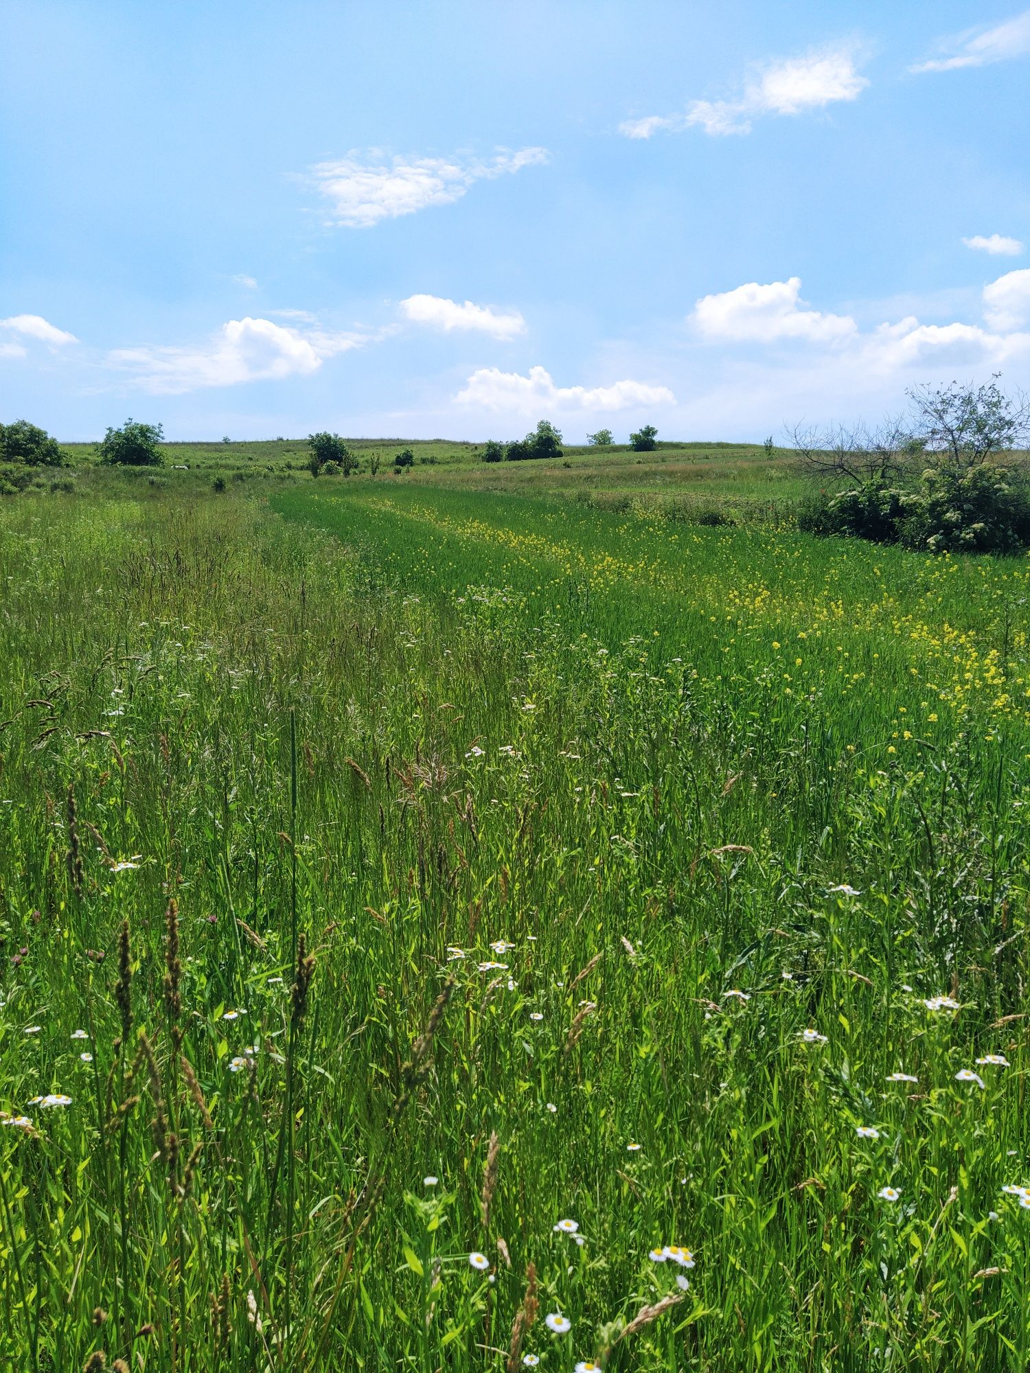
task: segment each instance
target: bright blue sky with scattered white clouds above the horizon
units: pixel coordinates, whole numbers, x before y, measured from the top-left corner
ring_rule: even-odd
[[[1030,386],[1030,10],[0,0],[0,420],[761,439]]]

